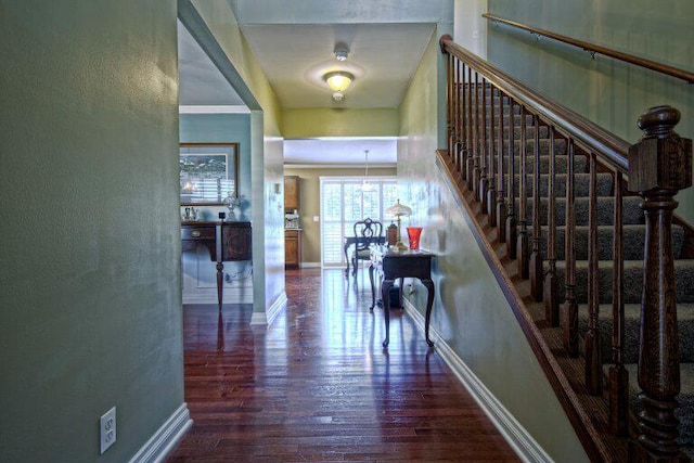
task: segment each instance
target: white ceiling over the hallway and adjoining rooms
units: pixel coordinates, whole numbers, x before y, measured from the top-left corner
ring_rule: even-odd
[[[396,18],[381,17],[380,22],[377,15],[369,13],[375,8],[370,1],[363,3],[362,13],[357,13],[362,14],[361,17],[330,18],[326,20],[329,24],[286,24],[303,21],[278,21],[277,8],[265,14],[260,5],[239,2],[239,7],[246,11],[244,15],[252,16],[253,23],[244,24],[241,17],[241,30],[282,108],[391,108],[400,105],[434,34],[435,21],[428,17],[426,21],[429,22],[416,22],[404,14]],[[286,10],[282,14],[292,14],[290,3],[280,3]],[[415,11],[421,10],[419,0],[411,3],[414,5],[412,14],[421,15]],[[444,4],[444,0],[437,3]],[[313,7],[318,10],[321,5],[323,3],[318,2]],[[402,8],[381,10],[390,16],[402,15],[404,11]],[[272,14],[275,16],[271,17]],[[344,14],[348,16],[351,11],[345,10]],[[267,23],[264,15],[270,17]],[[338,42],[350,50],[349,57],[343,63],[333,55]],[[334,102],[322,76],[338,68],[352,72],[356,78],[345,91],[345,99]],[[181,105],[243,105],[227,79],[180,23],[179,73]],[[393,165],[397,158],[395,138],[320,138],[285,140],[285,164],[363,166],[364,150],[369,150],[370,165]]]

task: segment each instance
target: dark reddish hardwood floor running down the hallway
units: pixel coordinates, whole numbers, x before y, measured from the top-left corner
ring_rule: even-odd
[[[286,310],[184,306],[192,429],[167,462],[519,461],[409,317],[370,313],[368,272],[287,271]]]

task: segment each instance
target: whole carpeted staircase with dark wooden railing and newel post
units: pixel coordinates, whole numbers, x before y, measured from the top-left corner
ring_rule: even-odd
[[[679,113],[644,114],[630,146],[450,37],[441,49],[449,142],[438,160],[496,250],[498,280],[520,296],[517,318],[535,324],[530,344],[589,455],[689,461],[694,233],[671,221],[692,144],[673,131]]]

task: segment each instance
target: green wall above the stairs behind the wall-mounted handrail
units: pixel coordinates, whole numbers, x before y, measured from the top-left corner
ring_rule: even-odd
[[[694,72],[694,2],[651,0],[488,0],[489,13]],[[642,137],[637,119],[669,104],[682,113],[677,127],[694,138],[694,91],[683,80],[528,33],[489,26],[488,59],[565,106],[630,143]],[[678,195],[677,213],[694,223],[694,190]]]

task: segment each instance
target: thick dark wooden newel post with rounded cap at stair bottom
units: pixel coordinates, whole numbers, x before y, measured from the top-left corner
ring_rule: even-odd
[[[630,461],[682,461],[676,441],[674,410],[680,393],[677,294],[672,257],[673,196],[692,185],[692,140],[673,130],[680,112],[670,106],[648,110],[639,118],[645,137],[629,149],[629,190],[643,198],[644,249],[641,336],[639,344],[638,440]]]

